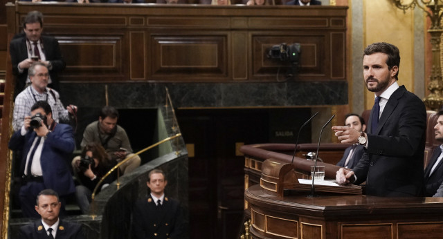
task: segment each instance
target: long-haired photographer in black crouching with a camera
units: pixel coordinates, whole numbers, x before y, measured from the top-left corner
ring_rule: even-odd
[[[91,204],[92,192],[102,177],[117,164],[112,160],[100,144],[91,142],[84,146],[80,159],[73,162],[74,171],[81,185],[75,187],[75,197],[83,214],[87,214]],[[116,171],[114,171],[116,172]],[[111,173],[99,189],[104,189],[116,179]],[[98,190],[99,192],[100,190]],[[98,193],[97,192],[97,193]]]

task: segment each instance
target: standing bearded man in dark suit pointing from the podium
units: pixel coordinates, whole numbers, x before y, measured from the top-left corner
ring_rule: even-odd
[[[363,79],[375,94],[368,133],[334,126],[342,143],[362,144],[365,153],[352,171],[340,169],[339,183],[361,184],[366,195],[422,196],[426,108],[419,97],[397,84],[400,53],[384,42],[365,48]]]

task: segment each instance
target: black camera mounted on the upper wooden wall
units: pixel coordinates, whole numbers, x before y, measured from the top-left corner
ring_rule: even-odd
[[[269,59],[280,59],[280,61],[286,61],[291,64],[291,68],[288,70],[287,77],[293,77],[298,73],[298,62],[300,61],[300,44],[286,44],[274,45],[267,54]]]

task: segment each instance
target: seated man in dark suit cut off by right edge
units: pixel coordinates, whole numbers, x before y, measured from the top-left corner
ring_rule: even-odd
[[[443,109],[437,113],[437,124],[434,126],[435,140],[443,142]],[[424,195],[432,197],[443,183],[443,144],[434,149],[431,160],[424,169]]]

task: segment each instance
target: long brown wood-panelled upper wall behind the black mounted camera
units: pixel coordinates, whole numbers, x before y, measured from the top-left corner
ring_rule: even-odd
[[[301,44],[297,80],[347,79],[342,6],[17,2],[14,7],[16,32],[29,10],[39,10],[44,31],[63,41],[67,66],[61,82],[274,82],[289,62],[271,61],[266,52],[284,42]]]

